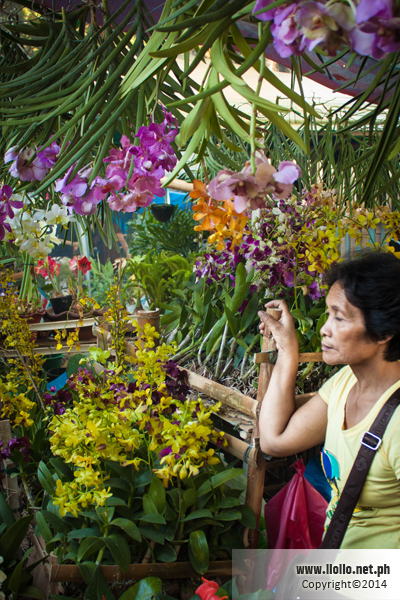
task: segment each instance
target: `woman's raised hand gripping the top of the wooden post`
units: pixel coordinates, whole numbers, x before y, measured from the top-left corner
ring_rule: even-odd
[[[261,320],[261,334],[264,335],[266,329],[269,329],[275,340],[277,350],[290,353],[298,352],[299,344],[294,321],[286,302],[284,300],[272,300],[265,305],[265,308],[276,308],[281,311],[281,316],[277,321],[271,315],[260,311],[258,316]]]

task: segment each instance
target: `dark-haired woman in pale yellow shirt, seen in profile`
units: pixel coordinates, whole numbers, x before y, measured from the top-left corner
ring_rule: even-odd
[[[338,263],[326,277],[328,320],[321,328],[322,356],[347,365],[295,412],[298,343],[282,300],[260,312],[279,351],[260,414],[261,450],[289,456],[325,442],[322,463],[332,487],[325,526],[360,448],[381,407],[400,387],[400,260],[370,252]],[[400,407],[369,470],[341,548],[400,547]]]

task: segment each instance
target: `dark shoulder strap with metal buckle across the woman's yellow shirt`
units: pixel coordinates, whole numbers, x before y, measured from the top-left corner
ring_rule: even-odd
[[[400,389],[397,389],[381,408],[370,430],[363,433],[361,447],[320,548],[340,548],[376,451],[382,443],[386,427],[399,404]]]

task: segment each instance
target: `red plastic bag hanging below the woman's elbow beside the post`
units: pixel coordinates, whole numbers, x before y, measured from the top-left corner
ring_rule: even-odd
[[[328,506],[325,498],[304,477],[301,459],[291,465],[292,479],[265,505],[268,548],[312,550],[321,545]],[[276,553],[268,569],[268,588],[273,589],[286,565]],[[286,563],[286,561],[285,561]]]

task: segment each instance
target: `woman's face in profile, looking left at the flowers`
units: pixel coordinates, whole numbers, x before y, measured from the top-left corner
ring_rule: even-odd
[[[351,304],[339,282],[326,298],[328,320],[321,327],[323,360],[328,365],[357,365],[373,358],[386,342],[373,342],[361,310]]]

